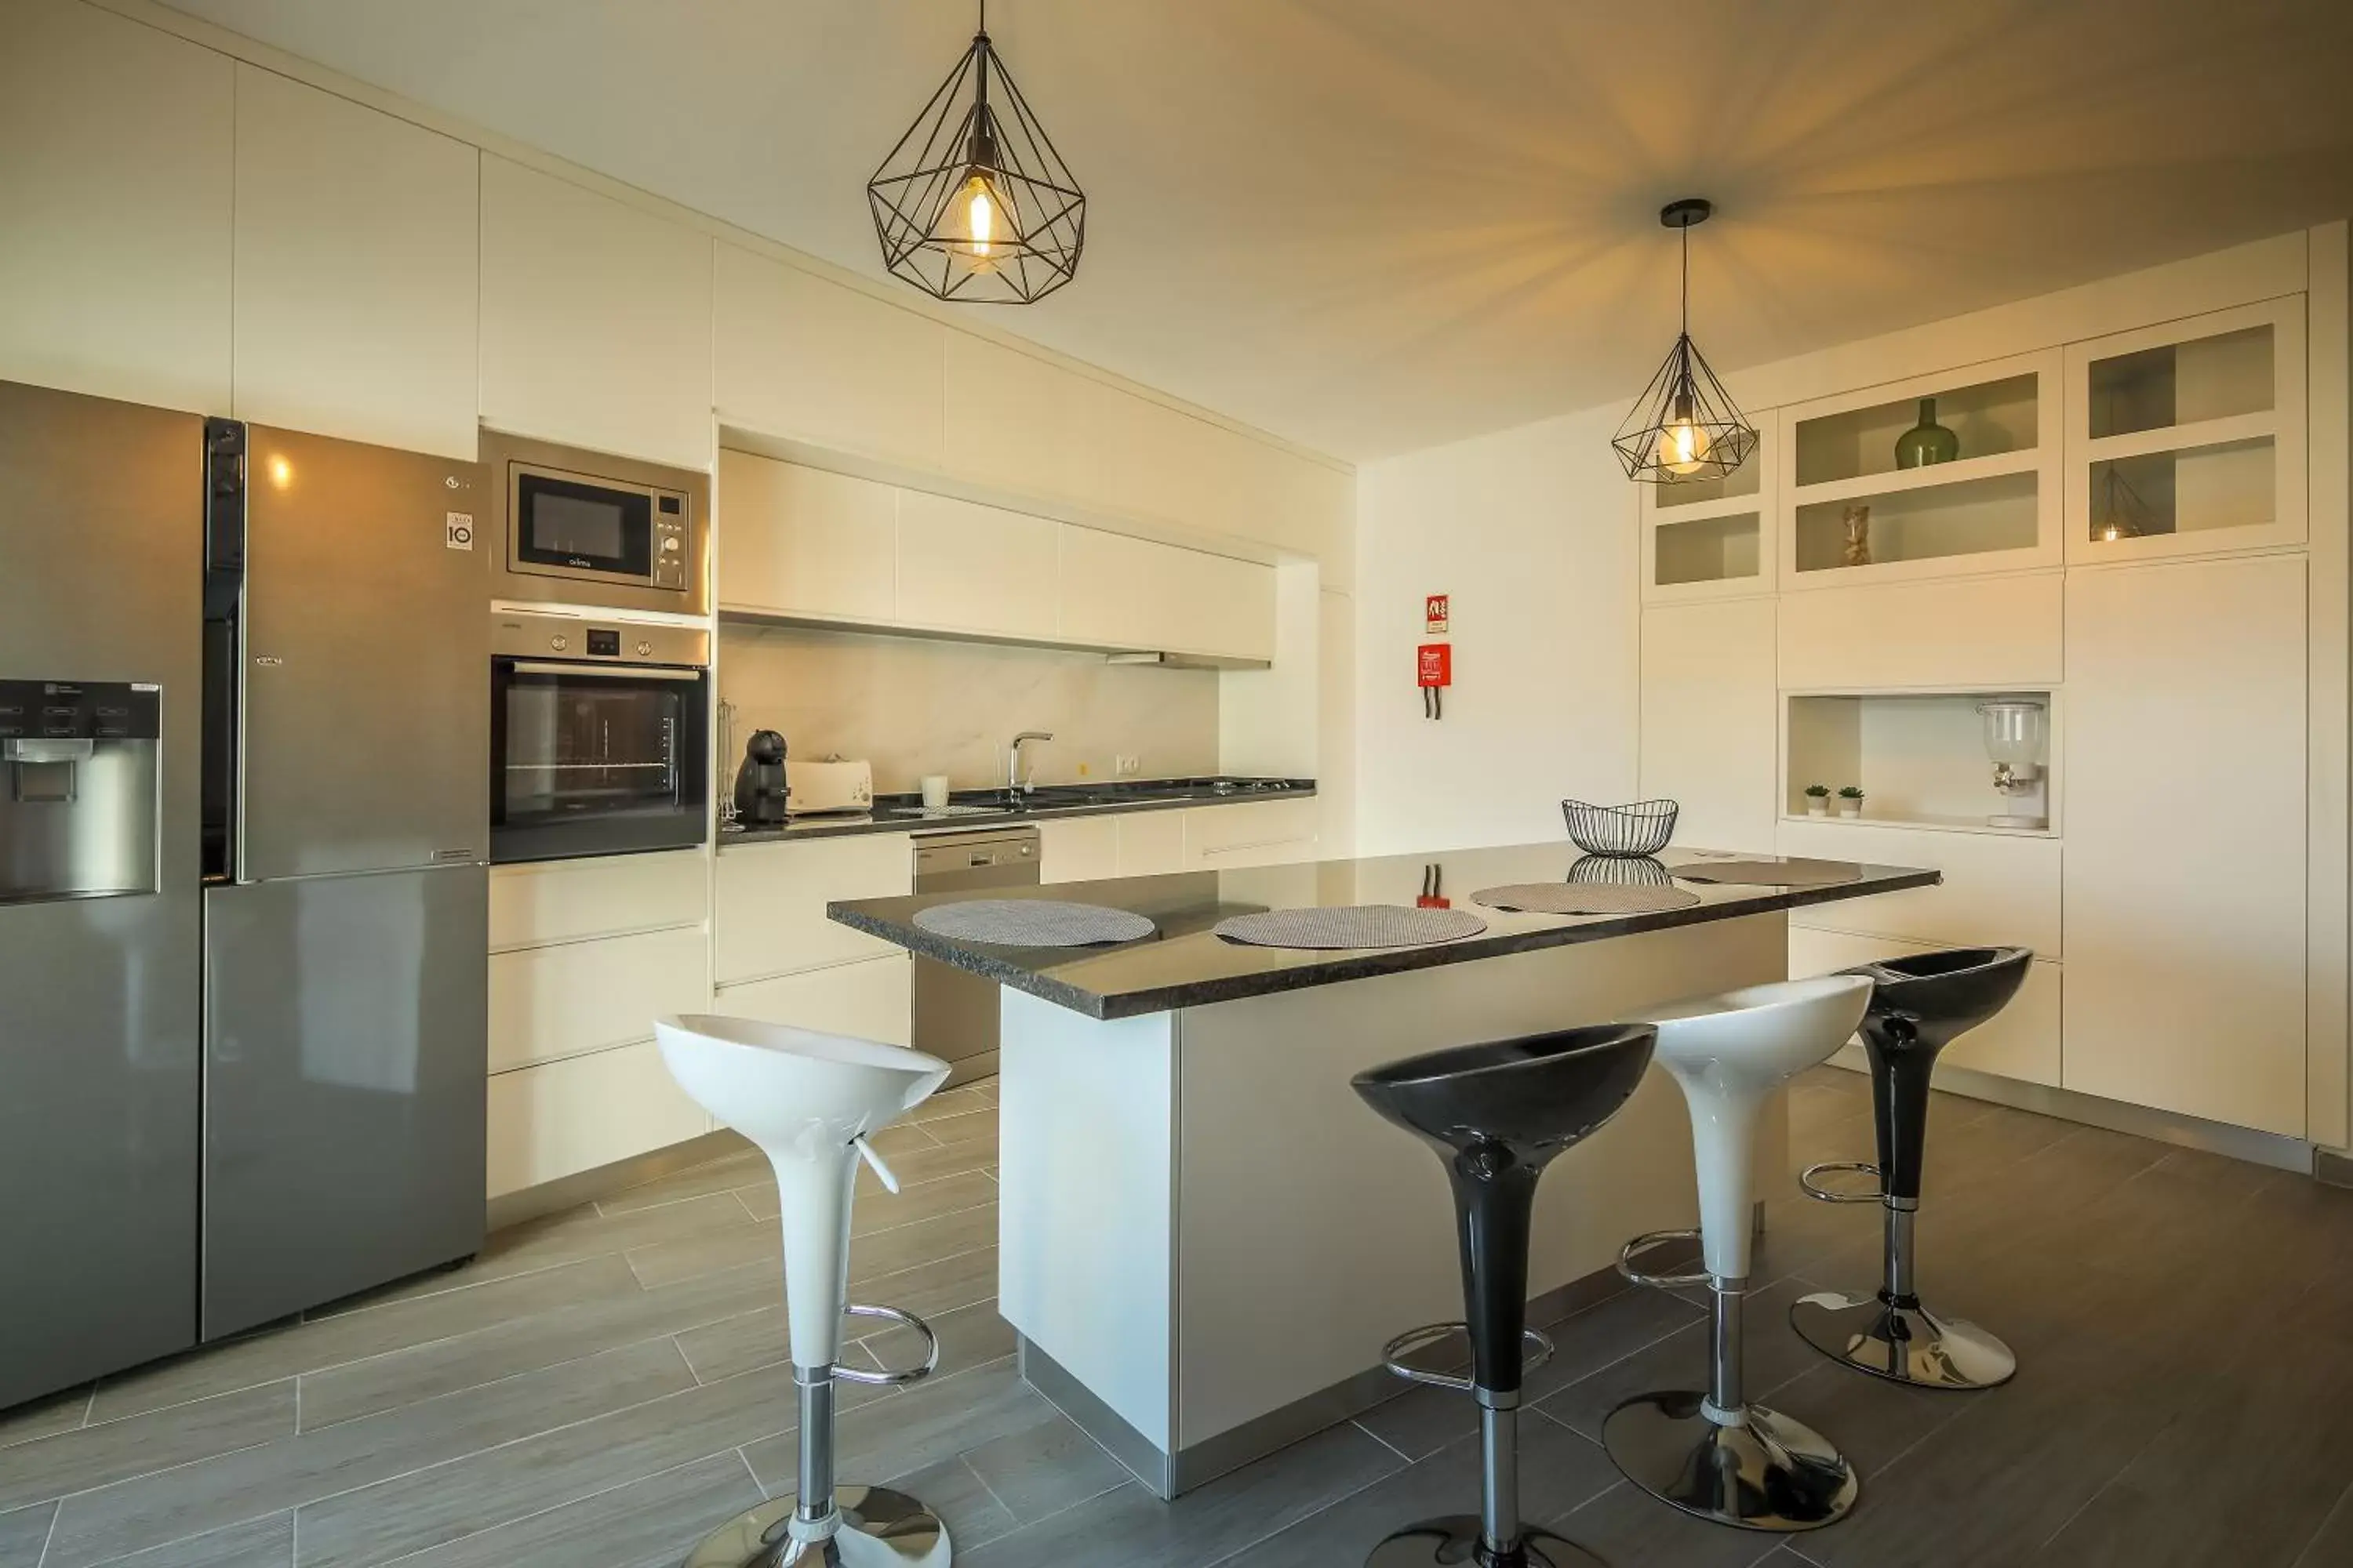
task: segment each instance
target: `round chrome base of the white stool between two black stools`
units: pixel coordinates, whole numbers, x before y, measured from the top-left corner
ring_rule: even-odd
[[[1652,1497],[1741,1530],[1819,1530],[1854,1507],[1854,1467],[1819,1432],[1762,1406],[1720,1425],[1704,1403],[1628,1399],[1602,1422],[1602,1448]]]

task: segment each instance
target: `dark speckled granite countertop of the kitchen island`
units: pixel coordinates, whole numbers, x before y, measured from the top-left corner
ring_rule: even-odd
[[[1115,947],[998,947],[934,936],[915,926],[915,912],[958,903],[974,893],[920,898],[856,898],[826,905],[845,926],[880,936],[908,952],[953,964],[981,978],[1045,997],[1089,1018],[1132,1018],[1179,1006],[1205,1006],[1264,997],[1306,985],[1362,980],[1367,976],[1466,964],[1537,947],[1593,943],[1640,931],[1666,931],[1741,914],[1769,914],[1845,898],[1868,898],[1897,889],[1934,886],[1944,877],[1901,865],[1857,865],[1854,882],[1828,886],[1734,886],[1678,882],[1699,903],[1664,914],[1511,914],[1471,903],[1471,893],[1513,882],[1562,882],[1579,853],[1572,844],[1520,844],[1511,849],[1454,849],[1421,856],[1266,865],[1228,872],[1176,872],[1169,877],[1122,877],[1115,882],[1064,882],[1038,889],[1000,889],[988,898],[1061,898],[1148,914],[1160,931]],[[1748,860],[1701,849],[1668,849],[1666,870],[1699,860]],[[1360,903],[1412,905],[1431,867],[1457,910],[1471,910],[1487,931],[1424,947],[1306,952],[1249,947],[1212,936],[1231,914],[1259,910],[1344,907]],[[1598,867],[1595,867],[1598,870]]]

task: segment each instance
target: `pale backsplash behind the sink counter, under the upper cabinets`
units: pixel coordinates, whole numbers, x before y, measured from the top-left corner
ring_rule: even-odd
[[[720,698],[732,703],[734,780],[744,738],[774,729],[793,757],[864,757],[875,790],[915,790],[946,773],[955,790],[1005,783],[1005,743],[1047,729],[1026,752],[1038,783],[1217,771],[1217,672],[1106,665],[1101,654],[802,628],[720,628]]]

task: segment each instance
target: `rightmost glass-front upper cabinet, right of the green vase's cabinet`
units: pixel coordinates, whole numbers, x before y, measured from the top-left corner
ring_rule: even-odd
[[[2068,559],[2304,543],[2304,296],[2068,348]]]

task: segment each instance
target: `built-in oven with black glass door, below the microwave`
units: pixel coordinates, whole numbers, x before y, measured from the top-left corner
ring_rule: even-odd
[[[489,858],[701,844],[711,827],[711,635],[492,616]]]

